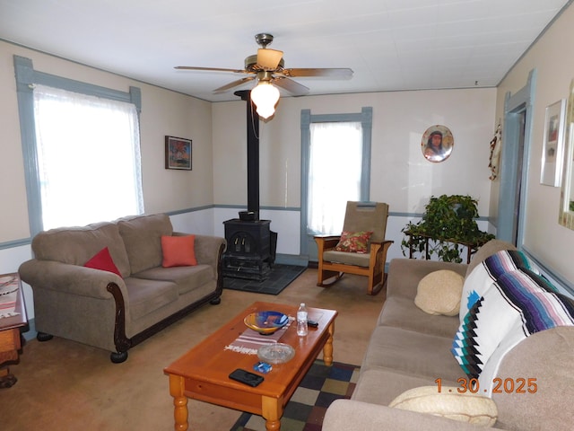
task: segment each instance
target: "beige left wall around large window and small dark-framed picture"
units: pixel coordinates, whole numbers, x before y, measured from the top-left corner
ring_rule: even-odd
[[[143,198],[149,213],[213,204],[211,103],[0,41],[0,243],[30,236],[13,55],[36,70],[127,92],[142,89]],[[164,136],[193,140],[193,171],[164,169]],[[97,149],[94,149],[97,151]],[[113,172],[102,172],[113,175]],[[8,208],[6,210],[6,208]]]

